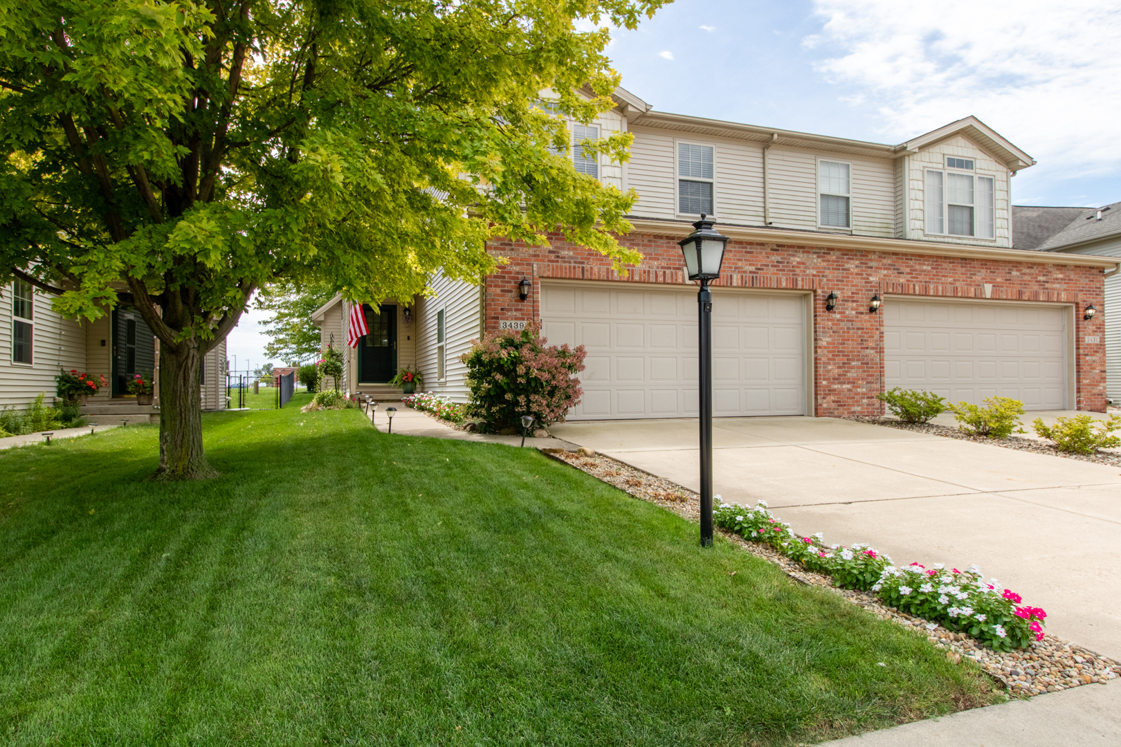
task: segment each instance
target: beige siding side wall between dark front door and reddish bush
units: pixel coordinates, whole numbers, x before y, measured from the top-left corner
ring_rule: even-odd
[[[471,349],[471,340],[482,336],[482,287],[448,280],[442,274],[432,279],[434,296],[417,301],[413,326],[416,330],[416,363],[424,374],[424,390],[444,394],[455,402],[466,402],[467,367],[460,356]],[[444,372],[437,381],[437,311],[444,310]]]

